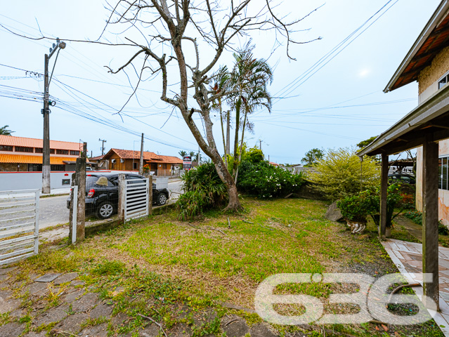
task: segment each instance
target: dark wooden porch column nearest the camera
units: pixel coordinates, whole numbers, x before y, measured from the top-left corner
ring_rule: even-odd
[[[426,135],[423,157],[423,212],[422,212],[422,272],[432,275],[432,282],[424,283],[424,295],[436,303],[424,305],[439,310],[438,292],[438,143],[432,134]]]

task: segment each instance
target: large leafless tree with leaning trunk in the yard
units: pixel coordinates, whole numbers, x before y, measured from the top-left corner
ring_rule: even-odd
[[[294,25],[305,17],[284,22],[284,18],[276,15],[273,8],[275,6],[271,0],[120,0],[112,8],[106,25],[108,27],[111,24],[125,23],[142,33],[146,43],[125,38],[134,44],[138,51],[124,65],[117,70],[110,69],[110,72],[117,73],[126,67],[134,67],[134,62],[140,61],[143,56],[138,84],[145,69],[153,73],[162,73],[161,100],[180,110],[198,145],[212,159],[217,173],[228,189],[229,203],[226,207],[228,211],[238,211],[242,206],[233,177],[223,163],[212,133],[213,123],[210,116],[212,103],[227,94],[226,91],[211,90],[210,84],[214,81],[213,70],[223,52],[232,48],[233,40],[245,37],[253,30],[274,30],[276,37],[285,39],[287,56],[291,59],[293,58],[289,55],[290,44],[310,42],[297,42],[292,39]],[[204,66],[200,65],[199,41],[214,48],[212,57],[205,61]],[[193,45],[195,57],[189,57],[189,47],[183,42]],[[157,52],[160,49],[157,47],[161,44],[169,46],[171,56],[167,57],[167,53]],[[155,61],[157,67],[148,65],[149,59]],[[190,59],[193,63],[188,61]],[[176,77],[179,80],[179,90],[169,97],[167,64],[171,61],[177,63]],[[194,92],[193,102],[189,100],[189,89]],[[194,114],[200,116],[204,125],[204,136],[193,119]]]

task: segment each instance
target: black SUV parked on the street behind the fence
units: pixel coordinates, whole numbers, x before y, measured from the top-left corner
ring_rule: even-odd
[[[142,179],[143,176],[124,173],[126,180]],[[98,178],[105,177],[108,186],[97,185]],[[167,188],[157,190],[152,184],[152,202],[164,205],[169,199]],[[110,218],[117,213],[119,203],[119,173],[96,172],[86,175],[86,215],[96,215],[100,219]],[[67,209],[70,209],[70,197],[67,199]]]

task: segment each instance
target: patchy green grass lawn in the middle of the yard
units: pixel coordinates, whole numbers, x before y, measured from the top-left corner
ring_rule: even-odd
[[[240,216],[211,211],[188,223],[178,221],[176,211],[167,211],[88,238],[75,247],[48,249],[20,263],[16,293],[30,282],[29,273],[77,271],[83,275],[86,289],[116,303],[115,313],[134,317],[129,332],[143,323],[137,313],[161,319],[169,328],[177,322],[175,308],[183,305],[192,310],[213,308],[218,317],[240,315],[247,324],[255,324],[260,318],[251,313],[254,291],[263,279],[277,273],[362,272],[378,277],[397,272],[374,225],[369,224],[365,234],[353,235],[346,225],[324,218],[327,205],[323,201],[245,197],[242,204],[246,211]],[[398,230],[395,235],[399,238],[406,231]],[[325,299],[339,289],[344,286],[312,283],[279,291]],[[32,326],[33,303],[27,305]],[[11,319],[4,315],[3,323]],[[203,326],[195,336],[220,335],[214,324]],[[301,331],[296,326],[275,328],[284,335]],[[362,324],[326,329],[323,332],[317,327],[308,333],[443,336],[433,321],[410,327]]]

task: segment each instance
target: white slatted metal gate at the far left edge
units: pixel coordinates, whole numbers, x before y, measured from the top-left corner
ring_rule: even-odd
[[[0,265],[39,251],[39,190],[0,191]]]

